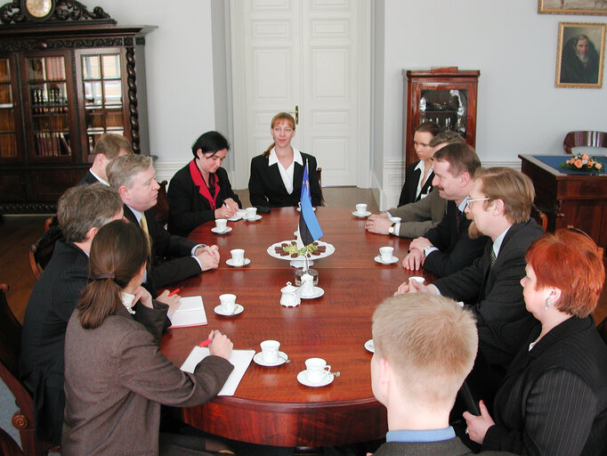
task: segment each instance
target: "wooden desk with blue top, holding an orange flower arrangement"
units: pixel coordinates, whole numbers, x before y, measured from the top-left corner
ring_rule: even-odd
[[[548,217],[548,231],[573,225],[607,250],[607,175],[568,175],[533,155],[519,158],[535,186],[536,205]]]

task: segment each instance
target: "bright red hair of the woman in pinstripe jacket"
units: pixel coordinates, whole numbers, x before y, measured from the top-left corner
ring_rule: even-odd
[[[603,289],[605,268],[595,241],[586,233],[546,233],[531,244],[525,259],[536,274],[536,289],[561,290],[554,304],[558,310],[579,318],[592,314]]]

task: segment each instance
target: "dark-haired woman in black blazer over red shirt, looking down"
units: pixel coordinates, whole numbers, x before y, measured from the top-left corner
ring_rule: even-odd
[[[206,132],[192,144],[194,159],[175,173],[166,193],[171,234],[186,237],[199,224],[230,218],[242,207],[221,167],[229,149],[218,132]]]

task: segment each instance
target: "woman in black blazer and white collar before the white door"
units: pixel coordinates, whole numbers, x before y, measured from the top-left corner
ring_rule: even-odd
[[[274,142],[262,155],[251,160],[251,176],[248,180],[251,204],[271,208],[297,206],[307,163],[312,206],[320,206],[322,197],[316,159],[291,147],[291,140],[295,136],[295,119],[287,112],[279,112],[271,119],[270,132]]]

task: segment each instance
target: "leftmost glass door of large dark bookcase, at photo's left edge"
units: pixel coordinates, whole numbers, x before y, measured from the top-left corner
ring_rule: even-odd
[[[14,81],[14,61],[0,56],[0,161],[20,160],[20,128]]]

